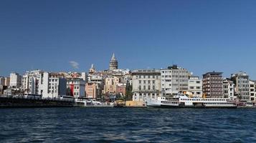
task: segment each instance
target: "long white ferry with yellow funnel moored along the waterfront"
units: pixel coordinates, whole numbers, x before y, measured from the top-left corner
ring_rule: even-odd
[[[158,97],[146,99],[147,107],[163,108],[237,108],[235,102],[220,98],[196,98],[179,94],[175,97]]]

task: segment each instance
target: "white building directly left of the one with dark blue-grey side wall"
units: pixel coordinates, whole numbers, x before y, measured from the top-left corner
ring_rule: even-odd
[[[24,94],[40,94],[39,80],[43,74],[41,70],[27,71],[22,76],[22,89]]]

